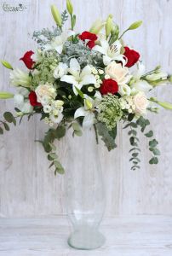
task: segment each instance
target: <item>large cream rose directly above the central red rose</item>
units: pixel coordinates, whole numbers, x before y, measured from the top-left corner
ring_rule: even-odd
[[[105,69],[106,75],[115,80],[118,85],[127,84],[131,79],[129,68],[123,67],[120,63],[112,61]]]

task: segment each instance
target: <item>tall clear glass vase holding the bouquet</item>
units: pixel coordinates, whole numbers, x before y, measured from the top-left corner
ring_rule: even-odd
[[[85,250],[95,249],[105,242],[99,231],[105,211],[105,188],[98,147],[93,133],[88,132],[92,137],[89,143],[86,137],[77,138],[77,146],[70,150],[73,155],[77,152],[77,160],[72,157],[70,168],[66,170],[66,210],[73,227],[68,244]]]

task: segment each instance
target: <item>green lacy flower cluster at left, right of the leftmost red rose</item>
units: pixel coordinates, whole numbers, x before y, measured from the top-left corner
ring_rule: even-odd
[[[32,86],[36,88],[38,84],[54,84],[54,68],[57,67],[58,62],[53,52],[42,52],[40,61],[32,73]]]

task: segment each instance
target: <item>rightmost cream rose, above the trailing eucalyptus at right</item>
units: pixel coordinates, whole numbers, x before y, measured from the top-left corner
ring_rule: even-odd
[[[137,114],[146,113],[148,101],[146,99],[146,95],[144,92],[141,91],[137,93],[133,98],[133,102],[135,105],[135,113]]]

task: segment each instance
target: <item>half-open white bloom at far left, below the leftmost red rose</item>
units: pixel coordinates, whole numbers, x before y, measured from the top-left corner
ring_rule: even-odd
[[[11,71],[9,78],[11,84],[14,86],[31,87],[31,77],[28,73],[21,71],[19,68]]]

